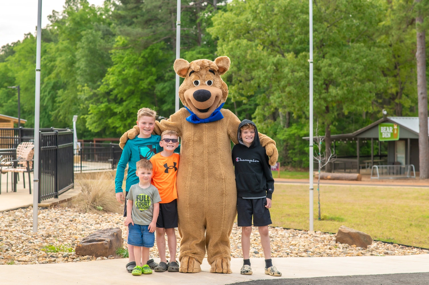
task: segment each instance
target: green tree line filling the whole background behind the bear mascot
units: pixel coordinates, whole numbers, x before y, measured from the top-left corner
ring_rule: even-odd
[[[281,165],[308,167],[308,1],[182,0],[181,57],[227,55],[229,108],[274,138]],[[348,133],[389,115],[417,115],[416,15],[423,0],[313,2],[314,119],[320,135]],[[175,0],[66,0],[42,29],[41,127],[70,127],[78,137],[119,137],[136,111],[174,112]],[[36,39],[0,48],[0,114],[34,120]],[[182,79],[181,79],[182,80]],[[328,133],[329,136],[329,133]],[[378,146],[375,146],[377,153]],[[382,149],[382,152],[385,150]],[[337,143],[354,155],[355,143]],[[363,144],[361,155],[370,153]]]

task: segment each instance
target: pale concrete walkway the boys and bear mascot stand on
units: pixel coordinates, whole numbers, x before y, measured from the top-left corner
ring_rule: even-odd
[[[356,256],[320,258],[273,258],[273,264],[283,273],[272,277],[263,273],[263,258],[251,258],[253,275],[240,275],[242,258],[231,261],[232,274],[209,273],[207,261],[202,272],[152,273],[132,276],[125,270],[127,259],[88,261],[72,264],[0,265],[0,283],[15,284],[193,284],[224,285],[257,279],[311,278],[429,271],[429,254],[406,256]],[[159,262],[158,258],[155,261]]]

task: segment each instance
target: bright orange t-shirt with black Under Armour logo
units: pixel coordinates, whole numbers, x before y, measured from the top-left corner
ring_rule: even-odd
[[[179,154],[161,156],[161,153],[157,153],[150,160],[154,171],[152,185],[158,188],[162,200],[160,203],[169,203],[177,199],[176,177]]]

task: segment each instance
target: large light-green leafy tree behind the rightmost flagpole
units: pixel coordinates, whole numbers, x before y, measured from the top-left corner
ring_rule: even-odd
[[[330,146],[340,114],[372,111],[375,94],[384,87],[383,50],[374,38],[383,11],[363,0],[314,6],[314,114]],[[228,76],[232,100],[257,96],[253,117],[263,132],[277,123],[286,126],[281,114],[287,112],[306,121],[308,2],[235,0],[212,20],[208,30],[218,39],[218,54],[234,59]],[[329,147],[326,151],[329,156]]]

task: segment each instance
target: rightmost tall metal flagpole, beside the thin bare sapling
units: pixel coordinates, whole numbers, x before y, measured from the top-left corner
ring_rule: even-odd
[[[313,227],[313,0],[309,0],[310,5],[310,231]]]

